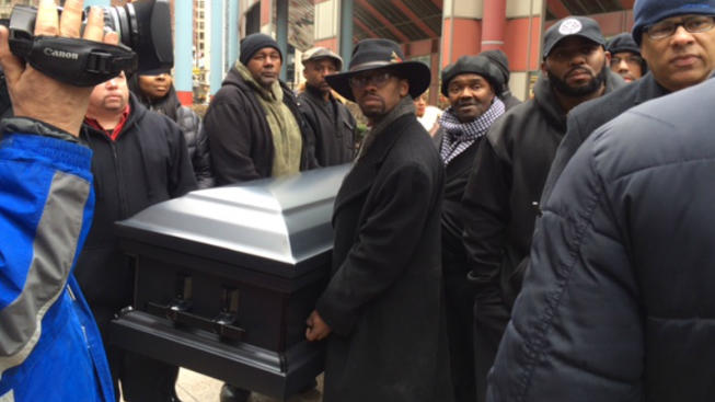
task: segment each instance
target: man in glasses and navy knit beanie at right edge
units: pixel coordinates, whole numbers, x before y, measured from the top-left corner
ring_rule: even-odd
[[[543,204],[578,147],[596,128],[628,108],[704,81],[715,69],[715,0],[637,0],[633,38],[649,72],[609,96],[575,108],[551,166]]]

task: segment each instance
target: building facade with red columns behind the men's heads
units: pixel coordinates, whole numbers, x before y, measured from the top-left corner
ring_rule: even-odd
[[[441,68],[460,56],[487,49],[507,54],[512,93],[527,99],[542,61],[541,38],[551,24],[567,15],[589,15],[601,24],[607,37],[613,36],[632,27],[634,3],[634,0],[240,1],[241,37],[263,32],[280,43],[281,16],[286,15],[286,41],[298,55],[311,46],[325,46],[348,60],[353,45],[362,38],[387,37],[400,43],[406,57],[431,68],[431,103],[437,101]],[[295,69],[295,83],[298,83],[302,76],[300,66]]]

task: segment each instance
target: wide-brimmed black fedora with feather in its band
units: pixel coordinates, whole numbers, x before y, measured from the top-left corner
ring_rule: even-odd
[[[355,102],[350,77],[364,71],[389,68],[410,82],[410,95],[417,97],[429,88],[429,67],[419,61],[404,61],[400,45],[390,39],[362,39],[353,49],[347,72],[325,76],[325,81],[341,95]]]

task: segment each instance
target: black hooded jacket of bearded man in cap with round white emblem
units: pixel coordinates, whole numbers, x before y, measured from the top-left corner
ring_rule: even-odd
[[[606,93],[625,84],[610,70],[606,77]],[[492,125],[464,189],[470,276],[480,287],[498,287],[507,306],[521,287],[541,191],[565,133],[566,113],[541,76],[534,99]]]

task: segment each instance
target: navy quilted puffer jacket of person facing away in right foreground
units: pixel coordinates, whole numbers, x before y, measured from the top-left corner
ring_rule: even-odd
[[[537,223],[489,401],[712,401],[712,106],[711,78],[579,148]]]

